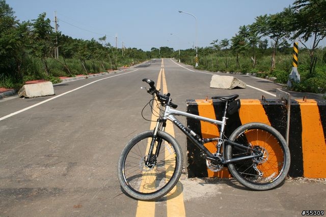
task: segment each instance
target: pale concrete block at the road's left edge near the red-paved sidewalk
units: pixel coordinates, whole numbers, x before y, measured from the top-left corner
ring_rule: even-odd
[[[34,84],[25,84],[18,91],[19,97],[34,98],[55,95],[53,84],[50,81]]]

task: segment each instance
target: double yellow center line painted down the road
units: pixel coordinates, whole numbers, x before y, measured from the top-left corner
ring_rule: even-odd
[[[168,92],[167,81],[165,77],[164,70],[164,59],[162,59],[161,69],[158,74],[156,87],[159,88],[162,84],[163,93],[166,94]],[[156,106],[153,106],[156,108]],[[155,113],[155,111],[154,111]],[[153,130],[156,125],[156,119],[154,115],[152,115],[152,122],[150,129]],[[167,121],[167,127],[165,131],[174,137],[173,124],[171,121]],[[183,202],[183,194],[182,194],[182,184],[180,181],[176,184],[176,186],[169,192],[166,196],[167,198],[167,216],[185,216],[184,202]],[[138,201],[136,216],[155,216],[155,201]]]

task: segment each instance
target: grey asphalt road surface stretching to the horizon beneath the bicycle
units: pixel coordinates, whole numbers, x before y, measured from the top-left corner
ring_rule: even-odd
[[[161,68],[182,111],[186,99],[231,94],[275,99],[280,88],[232,75],[256,88],[212,89],[212,74],[153,59],[115,74],[61,83],[56,96],[1,100],[0,216],[138,216],[141,209],[146,216],[177,216],[171,207],[186,216],[300,216],[304,209],[326,210],[324,181],[286,181],[273,191],[252,192],[233,179],[183,175],[169,198],[144,204],[124,195],[116,174],[119,154],[128,140],[149,129],[141,110],[151,96],[140,88],[147,85],[141,80],[156,82]],[[145,114],[151,117],[149,110]],[[185,148],[185,137],[176,130],[175,135]]]

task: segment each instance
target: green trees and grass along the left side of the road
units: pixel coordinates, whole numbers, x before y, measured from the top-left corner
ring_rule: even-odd
[[[106,36],[82,40],[55,32],[45,13],[19,22],[0,0],[0,86],[19,88],[34,79],[57,82],[59,76],[106,72],[149,58],[141,49],[113,47]]]

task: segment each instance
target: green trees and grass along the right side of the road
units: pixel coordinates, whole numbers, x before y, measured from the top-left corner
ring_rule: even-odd
[[[298,41],[302,81],[294,82],[293,88],[324,94],[326,49],[319,45],[325,36],[326,1],[296,0],[282,12],[257,16],[254,23],[240,26],[231,39],[216,39],[199,48],[199,68],[276,76],[278,82],[286,83],[292,67],[292,43]],[[195,65],[194,50],[180,53],[179,57],[175,52],[174,57]]]

